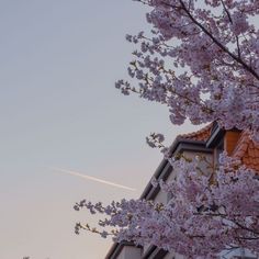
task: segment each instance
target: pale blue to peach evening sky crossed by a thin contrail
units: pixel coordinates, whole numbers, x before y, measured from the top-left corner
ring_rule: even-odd
[[[162,159],[145,137],[193,131],[114,88],[145,12],[131,0],[0,0],[1,259],[104,258],[110,239],[74,234],[97,222],[75,202],[138,198]]]

